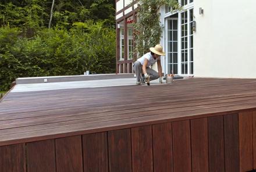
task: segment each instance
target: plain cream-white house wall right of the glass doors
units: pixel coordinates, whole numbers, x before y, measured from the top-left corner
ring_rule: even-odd
[[[194,1],[196,77],[256,78],[255,6],[255,0]]]

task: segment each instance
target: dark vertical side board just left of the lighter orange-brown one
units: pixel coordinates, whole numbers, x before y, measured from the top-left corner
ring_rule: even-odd
[[[225,171],[239,171],[238,114],[224,116]]]

